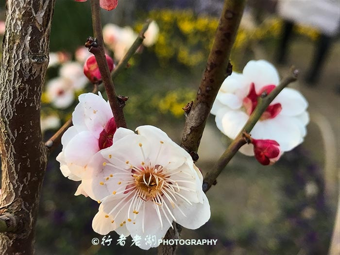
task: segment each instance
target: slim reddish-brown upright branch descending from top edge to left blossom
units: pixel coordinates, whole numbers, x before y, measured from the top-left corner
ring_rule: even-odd
[[[100,5],[98,0],[91,0],[93,34],[97,40],[97,45],[90,47],[89,51],[94,54],[99,71],[101,72],[102,82],[105,87],[106,95],[109,100],[113,116],[118,127],[126,127],[126,121],[122,107],[117,97],[115,85],[113,84],[109,67],[106,62],[105,51],[102,37],[102,21]]]

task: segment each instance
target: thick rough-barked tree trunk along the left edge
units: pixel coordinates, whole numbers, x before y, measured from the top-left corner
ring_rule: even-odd
[[[0,69],[0,215],[13,215],[0,234],[0,254],[33,254],[47,150],[40,130],[40,97],[49,62],[55,0],[6,0]],[[8,230],[7,230],[8,231]]]

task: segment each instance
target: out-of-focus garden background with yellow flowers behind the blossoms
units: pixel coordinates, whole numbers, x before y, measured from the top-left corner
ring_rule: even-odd
[[[129,96],[124,108],[129,128],[155,125],[180,141],[182,107],[195,97],[222,5],[222,0],[119,0],[116,10],[102,10],[105,24],[125,27],[132,35],[147,18],[159,28],[153,44],[139,49],[115,80],[118,93]],[[0,20],[4,18],[1,2]],[[0,34],[3,26],[0,22]],[[79,47],[89,35],[89,2],[57,0],[42,98],[46,139],[71,116],[77,95],[92,90],[90,84],[79,85],[82,68],[72,88],[50,82],[68,75],[63,67],[82,67],[86,52]],[[112,57],[116,53],[117,62],[118,51],[109,44],[107,50]],[[182,233],[183,239],[218,239],[217,245],[179,246],[178,254],[325,255],[339,199],[339,1],[249,0],[231,55],[233,70],[241,72],[251,59],[272,62],[281,76],[291,65],[300,69],[299,80],[291,86],[309,102],[305,142],[268,167],[238,153],[207,193],[210,221]],[[197,163],[204,174],[229,143],[210,116]],[[78,183],[61,174],[55,160],[60,151],[51,155],[45,176],[36,254],[156,254],[156,249],[130,247],[130,238],[124,247],[117,245],[115,232],[110,233],[110,246],[91,244],[92,238],[102,238],[91,227],[98,204],[73,195]]]

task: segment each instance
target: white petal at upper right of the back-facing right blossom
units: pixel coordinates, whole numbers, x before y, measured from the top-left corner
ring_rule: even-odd
[[[293,88],[284,88],[271,104],[281,103],[280,114],[285,116],[296,116],[306,111],[308,102],[304,96]]]

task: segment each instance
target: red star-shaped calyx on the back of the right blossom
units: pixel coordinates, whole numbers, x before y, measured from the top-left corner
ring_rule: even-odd
[[[271,93],[274,88],[275,88],[275,85],[267,85],[261,89],[259,94],[256,94],[254,83],[250,85],[249,93],[243,99],[243,106],[246,109],[246,112],[249,116],[254,112],[259,97],[263,93],[266,93],[267,95],[269,95],[269,93]],[[261,120],[273,119],[281,112],[281,110],[282,110],[281,103],[275,103],[275,104],[269,105],[266,111],[261,115],[260,119]]]

